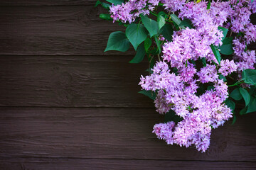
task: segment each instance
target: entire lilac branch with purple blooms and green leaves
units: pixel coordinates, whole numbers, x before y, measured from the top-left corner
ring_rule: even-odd
[[[255,1],[107,1],[97,1],[110,11],[100,18],[126,30],[111,33],[105,51],[132,44],[130,63],[149,61],[139,93],[165,114],[154,126],[159,139],[205,152],[213,128],[235,123],[236,107],[256,111],[255,51],[247,49],[256,40]]]

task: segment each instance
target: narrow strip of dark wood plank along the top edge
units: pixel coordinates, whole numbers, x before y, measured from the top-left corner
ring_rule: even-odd
[[[97,0],[1,0],[0,6],[73,6],[95,5]]]

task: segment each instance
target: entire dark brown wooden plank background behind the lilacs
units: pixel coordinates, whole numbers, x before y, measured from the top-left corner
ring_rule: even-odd
[[[0,1],[0,169],[256,169],[256,116],[213,130],[206,153],[151,133],[146,62],[106,52],[123,30],[96,0]]]

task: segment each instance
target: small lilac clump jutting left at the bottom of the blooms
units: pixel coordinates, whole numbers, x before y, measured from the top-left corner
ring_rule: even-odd
[[[156,136],[160,140],[165,140],[167,144],[174,144],[174,140],[172,138],[173,136],[173,129],[174,129],[175,123],[169,122],[169,123],[159,123],[154,125],[153,132],[156,134]]]

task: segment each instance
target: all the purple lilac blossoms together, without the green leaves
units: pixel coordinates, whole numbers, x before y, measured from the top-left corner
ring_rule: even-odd
[[[247,50],[247,45],[256,40],[256,26],[250,23],[256,1],[212,1],[208,8],[206,1],[129,0],[112,5],[110,14],[114,21],[132,23],[141,13],[149,15],[159,3],[169,13],[178,13],[182,20],[189,19],[193,28],[174,31],[171,42],[160,35],[159,40],[164,42],[163,61],[156,62],[152,74],[140,79],[142,89],[156,93],[157,112],[172,110],[183,118],[178,123],[156,124],[153,132],[167,144],[194,145],[198,151],[206,152],[211,130],[233,117],[225,105],[228,86],[220,76],[235,72],[239,78],[243,69],[254,69],[255,51]],[[233,56],[222,60],[217,60],[212,50],[213,45],[218,48],[223,44],[223,30],[219,27],[236,35],[231,39]],[[204,67],[196,67],[196,62],[203,60]],[[175,73],[171,71],[174,68]],[[211,84],[212,88],[198,95],[201,84]]]

